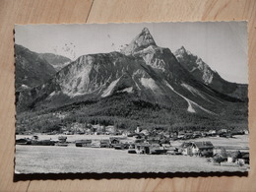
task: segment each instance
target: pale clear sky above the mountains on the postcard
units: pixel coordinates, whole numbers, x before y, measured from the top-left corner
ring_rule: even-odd
[[[75,60],[81,55],[118,51],[144,28],[160,47],[175,52],[183,45],[225,80],[248,84],[246,22],[16,25],[15,43]]]

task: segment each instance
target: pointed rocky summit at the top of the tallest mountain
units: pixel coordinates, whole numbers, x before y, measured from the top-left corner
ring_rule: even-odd
[[[128,46],[124,47],[121,52],[125,55],[133,55],[135,52],[147,48],[148,46],[153,45],[157,46],[151,32],[149,29],[144,28]]]

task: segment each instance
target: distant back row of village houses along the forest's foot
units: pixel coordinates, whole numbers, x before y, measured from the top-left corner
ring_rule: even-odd
[[[17,133],[23,135],[32,135],[32,131]],[[136,138],[147,138],[147,137],[160,137],[160,138],[170,138],[171,140],[190,140],[204,137],[225,137],[231,138],[234,135],[248,134],[248,130],[230,130],[230,129],[220,129],[220,130],[208,130],[208,131],[197,131],[193,129],[186,129],[183,131],[178,131],[178,129],[141,129],[139,126],[135,131],[121,130],[114,125],[93,125],[93,124],[82,124],[82,123],[72,123],[68,127],[62,127],[59,131],[52,131],[44,133],[47,135],[111,135],[111,136],[127,136]]]

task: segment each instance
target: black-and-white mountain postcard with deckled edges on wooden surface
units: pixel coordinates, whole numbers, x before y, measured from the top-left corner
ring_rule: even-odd
[[[247,22],[15,26],[15,174],[247,172]]]

